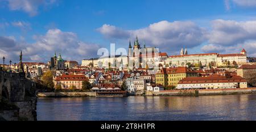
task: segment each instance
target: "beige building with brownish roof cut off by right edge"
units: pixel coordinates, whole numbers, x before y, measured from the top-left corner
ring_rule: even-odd
[[[246,74],[256,74],[256,65],[242,65],[237,69],[237,75],[245,78]]]

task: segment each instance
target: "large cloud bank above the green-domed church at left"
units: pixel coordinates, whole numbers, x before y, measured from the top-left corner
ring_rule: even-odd
[[[6,39],[7,37],[1,38]],[[47,62],[56,50],[57,53],[61,53],[63,59],[81,62],[81,59],[95,56],[100,48],[97,44],[80,41],[76,33],[63,32],[60,29],[49,29],[46,35],[34,36],[34,38],[36,42],[33,44],[6,40],[4,44],[0,43],[1,46],[6,47],[1,48],[0,53],[5,54],[6,58],[18,60],[19,50],[23,50],[24,61]],[[11,44],[12,46],[10,46]]]

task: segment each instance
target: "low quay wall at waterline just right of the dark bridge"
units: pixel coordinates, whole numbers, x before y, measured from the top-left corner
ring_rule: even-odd
[[[38,92],[38,97],[96,97],[96,92]]]

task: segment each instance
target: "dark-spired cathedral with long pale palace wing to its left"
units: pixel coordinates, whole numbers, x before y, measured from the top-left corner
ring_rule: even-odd
[[[120,69],[122,67],[130,69],[133,67],[144,68],[146,64],[150,65],[152,63],[158,66],[159,63],[164,63],[167,58],[167,53],[159,53],[158,49],[155,47],[146,47],[145,42],[143,46],[141,46],[137,37],[133,46],[131,46],[131,42],[129,42],[127,55],[84,59],[82,60],[82,66],[120,67]]]

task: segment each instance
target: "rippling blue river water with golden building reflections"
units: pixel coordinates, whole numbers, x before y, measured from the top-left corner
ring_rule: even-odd
[[[256,95],[40,98],[38,120],[256,120]]]

